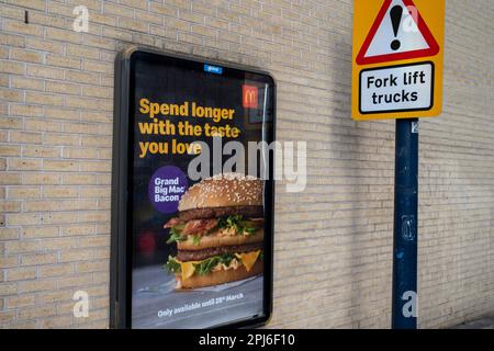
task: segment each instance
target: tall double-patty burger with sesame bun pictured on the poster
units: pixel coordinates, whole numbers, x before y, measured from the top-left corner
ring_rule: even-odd
[[[177,288],[239,281],[262,273],[262,181],[239,173],[214,176],[195,183],[171,218],[168,244],[178,253],[165,268]]]

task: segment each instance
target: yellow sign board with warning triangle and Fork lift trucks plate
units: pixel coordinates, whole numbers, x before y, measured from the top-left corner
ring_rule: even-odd
[[[442,110],[445,0],[355,0],[353,120]]]

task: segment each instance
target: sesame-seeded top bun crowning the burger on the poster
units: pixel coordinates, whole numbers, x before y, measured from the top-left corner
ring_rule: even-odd
[[[231,206],[262,206],[262,180],[240,173],[204,179],[183,194],[178,210]]]

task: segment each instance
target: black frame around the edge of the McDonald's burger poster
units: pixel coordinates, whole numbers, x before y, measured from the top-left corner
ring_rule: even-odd
[[[111,259],[110,259],[110,328],[132,328],[132,216],[128,215],[132,182],[132,162],[128,161],[133,147],[133,129],[130,127],[134,99],[133,65],[137,53],[156,56],[156,59],[173,58],[187,61],[188,65],[214,65],[224,73],[254,73],[266,76],[273,89],[272,128],[270,140],[276,140],[276,81],[262,70],[206,59],[193,55],[157,50],[143,46],[131,46],[120,52],[115,58],[114,110],[113,110],[113,163],[111,194]],[[269,179],[265,181],[265,271],[263,271],[263,315],[244,320],[215,326],[215,328],[255,328],[269,322],[272,314],[273,285],[273,226],[274,226],[274,180],[273,157],[269,157]],[[268,253],[268,254],[266,254]]]

